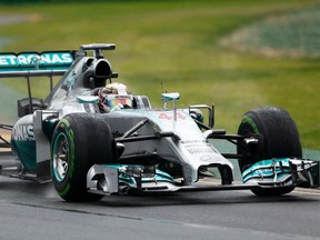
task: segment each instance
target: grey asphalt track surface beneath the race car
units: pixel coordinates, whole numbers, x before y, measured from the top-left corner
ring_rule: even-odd
[[[0,239],[320,239],[320,191],[109,196],[69,203],[52,183],[0,177]]]

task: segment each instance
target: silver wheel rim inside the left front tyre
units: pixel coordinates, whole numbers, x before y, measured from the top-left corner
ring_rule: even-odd
[[[69,143],[64,133],[58,134],[53,146],[52,169],[53,176],[62,182],[68,172]]]

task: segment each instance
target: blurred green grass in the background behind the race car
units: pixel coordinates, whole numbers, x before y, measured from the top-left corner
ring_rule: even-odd
[[[264,18],[319,3],[173,0],[1,6],[1,16],[23,14],[29,21],[0,26],[0,39],[14,40],[0,43],[0,51],[114,42],[117,50],[106,56],[120,73],[119,81],[137,94],[148,94],[154,107],[161,106],[161,86],[181,93],[180,107],[214,103],[217,128],[230,133],[246,111],[282,107],[296,120],[303,147],[320,149],[319,59],[266,58],[221,44],[223,38]],[[41,97],[43,88],[47,91],[42,82],[38,80],[40,87],[34,89]]]

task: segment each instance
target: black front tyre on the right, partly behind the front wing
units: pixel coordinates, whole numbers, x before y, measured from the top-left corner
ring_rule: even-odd
[[[258,138],[258,144],[248,148],[243,141],[238,142],[240,171],[260,160],[272,158],[302,158],[302,148],[297,126],[291,116],[281,108],[268,107],[247,112],[238,129],[238,134]],[[257,196],[280,196],[291,192],[294,187],[257,188],[251,191]]]

